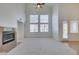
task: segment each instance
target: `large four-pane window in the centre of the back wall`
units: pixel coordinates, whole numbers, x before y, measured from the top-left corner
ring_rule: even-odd
[[[30,15],[30,32],[48,32],[48,15]]]

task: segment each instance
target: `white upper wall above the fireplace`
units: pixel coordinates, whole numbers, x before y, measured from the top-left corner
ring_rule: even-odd
[[[24,4],[1,3],[0,4],[0,26],[17,27],[17,19],[24,20]]]

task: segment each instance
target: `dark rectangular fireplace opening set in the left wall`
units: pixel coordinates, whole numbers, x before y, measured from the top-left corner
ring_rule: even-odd
[[[15,32],[14,31],[3,31],[2,32],[2,44],[7,44],[15,40]]]

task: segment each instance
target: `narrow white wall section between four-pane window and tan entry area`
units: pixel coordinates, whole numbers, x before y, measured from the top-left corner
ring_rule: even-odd
[[[58,4],[52,7],[52,36],[55,40],[59,39],[59,18],[58,18]]]

